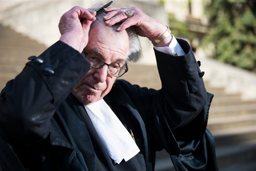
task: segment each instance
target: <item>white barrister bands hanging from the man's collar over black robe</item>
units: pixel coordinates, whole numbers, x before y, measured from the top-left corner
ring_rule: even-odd
[[[91,105],[84,105],[109,156],[120,163],[130,160],[140,152],[130,133],[125,129],[110,106],[101,99]]]

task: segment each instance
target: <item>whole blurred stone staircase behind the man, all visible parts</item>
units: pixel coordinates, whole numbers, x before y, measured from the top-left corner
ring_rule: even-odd
[[[30,55],[39,55],[45,49],[37,41],[0,25],[0,90],[22,71]],[[122,79],[142,87],[161,88],[156,66],[131,63]],[[242,101],[240,94],[227,94],[224,88],[212,88],[207,80],[206,88],[215,94],[208,128],[216,141],[220,170],[255,170],[256,101]],[[157,153],[156,170],[174,170],[164,151]]]

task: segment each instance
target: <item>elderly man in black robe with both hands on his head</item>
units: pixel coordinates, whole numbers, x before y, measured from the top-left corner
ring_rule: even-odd
[[[60,40],[1,92],[2,168],[154,170],[165,149],[177,170],[217,170],[212,95],[187,42],[137,7],[96,9],[63,14]],[[161,90],[117,80],[138,60],[137,34],[153,42]]]

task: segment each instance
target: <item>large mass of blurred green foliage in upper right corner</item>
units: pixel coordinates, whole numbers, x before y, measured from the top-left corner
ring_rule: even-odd
[[[214,42],[218,60],[256,73],[255,4],[254,0],[210,0],[205,11],[211,29],[202,42]]]

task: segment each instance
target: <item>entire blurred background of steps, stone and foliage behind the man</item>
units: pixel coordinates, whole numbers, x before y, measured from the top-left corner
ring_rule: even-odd
[[[59,37],[60,16],[95,0],[0,0],[0,90]],[[105,1],[102,1],[105,2]],[[115,0],[137,6],[186,39],[201,61],[208,92],[215,95],[208,129],[214,135],[220,170],[256,168],[256,19],[254,0]],[[143,58],[122,78],[161,88],[153,46],[141,37]],[[156,170],[174,170],[168,154],[157,153]]]

